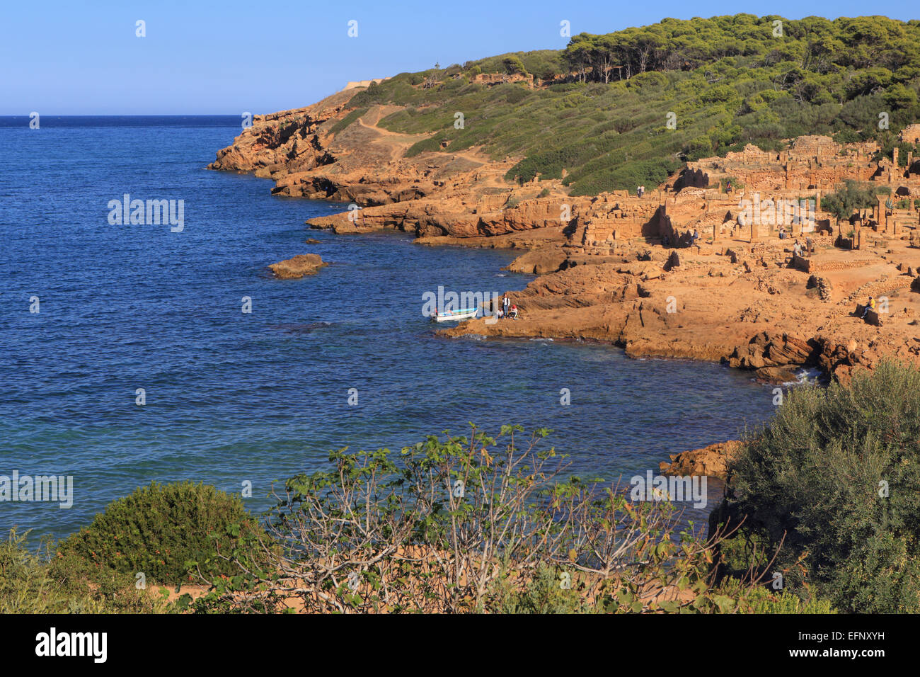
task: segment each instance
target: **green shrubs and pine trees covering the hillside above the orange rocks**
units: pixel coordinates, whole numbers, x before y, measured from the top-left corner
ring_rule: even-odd
[[[483,146],[494,158],[523,158],[509,180],[561,178],[573,194],[594,194],[655,185],[686,160],[748,143],[779,148],[802,134],[891,147],[896,130],[920,119],[918,42],[917,20],[665,18],[581,33],[561,51],[402,73],[351,105],[403,106],[381,126],[432,134],[408,155],[441,151],[443,141],[443,152]],[[537,86],[474,81],[495,73],[534,76]]]

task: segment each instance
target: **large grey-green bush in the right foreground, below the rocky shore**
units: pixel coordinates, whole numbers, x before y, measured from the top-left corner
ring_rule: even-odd
[[[730,467],[732,562],[784,543],[787,589],[859,613],[920,612],[920,371],[788,394]],[[772,574],[771,574],[772,575]]]

